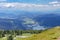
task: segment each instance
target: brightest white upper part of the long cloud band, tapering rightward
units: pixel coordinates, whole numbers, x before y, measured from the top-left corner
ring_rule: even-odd
[[[12,6],[14,6],[14,7],[45,7],[45,6],[48,6],[48,5],[37,5],[37,4],[28,4],[28,3],[0,3],[0,4],[2,4],[2,6],[4,6],[4,7],[12,7]]]

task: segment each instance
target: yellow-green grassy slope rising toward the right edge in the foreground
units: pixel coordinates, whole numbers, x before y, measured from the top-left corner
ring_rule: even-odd
[[[30,38],[17,38],[17,40],[57,40],[58,37],[60,37],[60,27],[48,29],[40,34],[33,35]]]

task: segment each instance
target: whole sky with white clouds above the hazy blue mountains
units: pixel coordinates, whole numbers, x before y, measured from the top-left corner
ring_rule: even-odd
[[[0,0],[0,10],[58,11],[60,0]]]

